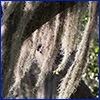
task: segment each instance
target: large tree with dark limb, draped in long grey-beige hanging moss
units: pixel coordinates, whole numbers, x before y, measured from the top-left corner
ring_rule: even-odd
[[[81,77],[98,8],[97,1],[1,2],[2,99],[94,98]],[[73,46],[76,34],[82,40]]]

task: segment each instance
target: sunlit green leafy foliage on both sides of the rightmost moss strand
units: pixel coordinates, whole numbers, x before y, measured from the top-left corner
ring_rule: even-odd
[[[89,13],[87,12],[82,18],[82,28],[83,31],[86,23],[89,19]],[[87,72],[85,73],[86,83],[92,90],[93,95],[99,98],[99,37],[93,37],[91,45],[89,48],[89,57],[87,64]]]

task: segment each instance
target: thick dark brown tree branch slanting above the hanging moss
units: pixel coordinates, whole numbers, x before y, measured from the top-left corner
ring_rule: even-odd
[[[23,40],[28,38],[32,32],[40,28],[52,17],[61,13],[65,9],[74,6],[76,3],[76,1],[36,1],[33,16],[25,28]]]

